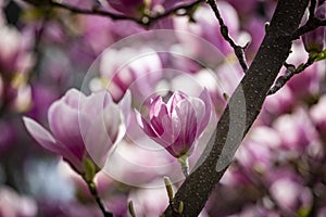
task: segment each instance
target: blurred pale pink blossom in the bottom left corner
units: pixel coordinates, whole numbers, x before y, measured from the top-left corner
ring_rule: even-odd
[[[12,189],[0,188],[0,216],[34,217],[37,215],[36,203],[27,196],[21,196]]]

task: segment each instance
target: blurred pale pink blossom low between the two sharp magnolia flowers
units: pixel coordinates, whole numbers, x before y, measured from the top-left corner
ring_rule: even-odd
[[[151,141],[149,145],[153,145],[152,149],[145,146],[146,142],[146,139],[135,143],[126,140],[120,142],[110,155],[104,173],[117,181],[136,187],[147,186],[158,176],[167,174],[171,167],[165,152],[154,151],[155,144]]]

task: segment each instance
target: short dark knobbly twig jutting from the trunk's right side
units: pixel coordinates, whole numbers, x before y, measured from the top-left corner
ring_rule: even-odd
[[[275,85],[269,89],[267,95],[276,93],[280,88],[283,88],[294,75],[302,73],[305,68],[311,66],[314,63],[314,60],[309,58],[304,64],[301,64],[296,68],[294,65],[284,63],[284,66],[287,68],[285,75],[277,78]]]

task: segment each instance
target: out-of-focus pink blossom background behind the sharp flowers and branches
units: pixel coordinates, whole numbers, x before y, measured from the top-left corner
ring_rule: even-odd
[[[121,2],[62,0],[59,3],[143,21],[195,1]],[[218,0],[217,5],[231,37],[242,46],[250,41],[246,50],[250,63],[276,1]],[[220,54],[212,56],[199,40],[175,34],[168,43],[170,52],[145,56],[141,64],[127,65],[120,72],[120,65],[133,53],[150,48],[146,43],[138,48],[113,48],[100,55],[121,39],[150,29],[198,36]],[[184,48],[189,48],[187,52],[193,59],[174,55],[174,51]],[[302,41],[294,41],[287,62],[298,66],[306,59]],[[95,76],[85,84],[95,62],[98,64],[92,69]],[[201,216],[326,216],[325,65],[325,61],[313,64],[267,98]],[[37,144],[23,125],[22,117],[28,116],[48,128],[49,106],[68,89],[108,88],[118,102],[130,88],[133,106],[139,108],[146,97],[162,87],[189,94],[198,93],[198,87],[205,87],[218,119],[242,76],[233,49],[220,35],[218,23],[204,3],[180,9],[146,26],[134,21],[82,15],[42,3],[33,7],[25,1],[0,0],[0,217],[101,216],[78,175],[60,156]],[[213,127],[214,122],[208,130]],[[121,142],[122,159],[115,162],[120,165],[118,178],[101,171],[96,177],[100,195],[115,216],[128,216],[130,200],[137,216],[159,216],[168,199],[164,186],[156,183],[166,174],[180,175],[168,154],[154,155],[135,144],[133,138],[137,136],[135,127],[129,127]],[[204,133],[201,138],[190,167],[209,137],[210,133]],[[167,166],[162,170],[158,165]],[[147,166],[152,169],[146,169]],[[178,180],[175,188],[180,183]],[[148,184],[151,188],[145,188]]]

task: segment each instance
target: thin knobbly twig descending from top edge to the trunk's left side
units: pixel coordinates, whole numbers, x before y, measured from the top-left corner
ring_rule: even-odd
[[[225,25],[225,23],[222,18],[222,15],[218,11],[215,0],[208,0],[208,3],[211,5],[211,8],[214,11],[215,16],[220,23],[220,29],[221,29],[222,36],[230,44],[230,47],[233,47],[233,49],[235,50],[236,56],[243,69],[243,72],[246,73],[248,71],[248,64],[246,61],[244,49],[248,47],[249,43],[247,43],[244,47],[237,44],[228,34],[228,27]]]

